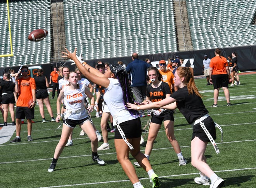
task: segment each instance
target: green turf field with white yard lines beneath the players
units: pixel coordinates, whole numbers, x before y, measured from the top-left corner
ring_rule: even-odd
[[[220,91],[218,105],[213,104],[213,86],[206,86],[206,79],[196,79],[196,85],[205,96],[206,108],[214,121],[221,125],[224,137],[220,142],[220,131],[216,129],[216,144],[220,154],[216,154],[209,144],[206,158],[209,166],[218,176],[225,180],[227,188],[256,187],[256,75],[241,75],[241,85],[229,88],[232,106],[227,107],[223,90]],[[52,108],[56,115],[56,99],[52,100]],[[100,118],[92,113],[96,128],[100,130]],[[61,136],[61,129],[55,132],[58,123],[50,122],[45,109],[47,123],[42,124],[38,106],[35,107],[35,124],[33,124],[33,142],[28,142],[26,124],[22,125],[21,141],[6,142],[0,145],[0,187],[39,188],[39,187],[77,187],[77,188],[131,188],[133,187],[126,174],[116,160],[114,133],[109,133],[110,149],[98,154],[106,162],[99,166],[92,161],[90,140],[87,136],[79,136],[80,128],[73,131],[74,145],[65,147],[58,160],[55,171],[48,173],[55,146]],[[192,128],[180,112],[175,113],[175,136],[184,157],[186,166],[178,166],[178,159],[166,138],[163,127],[160,129],[150,156],[150,163],[158,174],[162,188],[203,188],[197,185],[194,178],[198,171],[191,165],[190,139]],[[141,118],[145,125],[148,117]],[[11,122],[10,115],[8,122]],[[15,137],[15,133],[11,139]],[[99,142],[102,144],[103,141]],[[144,152],[145,144],[141,147]],[[130,157],[131,162],[135,159]],[[140,181],[145,188],[150,188],[149,177],[142,168],[136,168]]]

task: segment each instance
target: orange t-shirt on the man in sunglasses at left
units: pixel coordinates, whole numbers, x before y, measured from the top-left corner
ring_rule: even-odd
[[[36,82],[34,78],[20,78],[18,80],[18,87],[19,98],[17,100],[17,107],[28,107],[29,100],[33,99],[32,90],[36,89]]]

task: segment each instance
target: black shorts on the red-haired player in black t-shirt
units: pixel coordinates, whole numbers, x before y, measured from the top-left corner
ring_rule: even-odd
[[[202,122],[204,122],[206,129],[209,131],[209,133],[215,140],[216,139],[216,129],[215,129],[215,124],[214,124],[213,119],[209,116],[208,118],[204,119]],[[208,136],[202,129],[200,123],[193,126],[193,134],[192,134],[191,140],[193,140],[195,136],[198,137],[201,141],[210,142],[210,140],[208,139]]]

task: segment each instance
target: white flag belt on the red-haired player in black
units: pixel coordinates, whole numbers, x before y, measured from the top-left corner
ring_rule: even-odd
[[[220,153],[220,150],[218,149],[218,146],[217,146],[217,144],[215,143],[213,137],[211,136],[211,134],[209,133],[209,131],[206,129],[206,127],[205,127],[205,125],[204,125],[204,122],[202,122],[203,120],[205,120],[205,119],[208,118],[208,117],[209,117],[209,114],[206,114],[206,115],[202,116],[201,118],[195,120],[195,121],[191,124],[191,126],[193,127],[194,125],[200,123],[200,126],[201,126],[202,129],[204,130],[204,132],[205,132],[205,134],[207,135],[209,141],[211,142],[211,144],[213,144],[213,147],[214,147],[216,153],[218,154],[218,153]],[[220,132],[221,132],[221,142],[222,142],[222,141],[223,141],[223,131],[222,131],[222,129],[221,129],[221,127],[220,127],[219,124],[216,124],[216,123],[214,122],[214,125],[215,125],[215,127],[218,127],[218,129],[220,129]]]

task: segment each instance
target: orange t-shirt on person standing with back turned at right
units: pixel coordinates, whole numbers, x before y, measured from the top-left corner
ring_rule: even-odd
[[[227,74],[226,66],[228,66],[228,62],[223,56],[211,58],[210,67],[213,68],[213,75]]]

